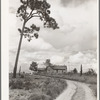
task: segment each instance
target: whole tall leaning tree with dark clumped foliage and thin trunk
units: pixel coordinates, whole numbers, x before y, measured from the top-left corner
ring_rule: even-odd
[[[58,24],[56,23],[55,19],[50,17],[50,4],[47,3],[46,0],[20,0],[22,5],[17,10],[17,17],[21,18],[21,21],[23,21],[22,28],[18,29],[20,32],[20,41],[18,45],[18,51],[16,55],[15,60],[15,66],[13,70],[13,78],[16,78],[16,71],[17,71],[17,64],[18,64],[18,58],[20,54],[21,44],[23,37],[27,38],[30,42],[33,37],[36,39],[38,38],[38,33],[40,30],[40,27],[37,27],[34,24],[31,24],[30,27],[26,26],[26,23],[34,18],[38,17],[41,21],[44,23],[44,27],[47,28],[53,28],[57,29]]]

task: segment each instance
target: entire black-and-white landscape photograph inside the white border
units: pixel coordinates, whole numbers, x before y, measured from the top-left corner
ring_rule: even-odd
[[[9,100],[98,100],[98,0],[8,2]]]

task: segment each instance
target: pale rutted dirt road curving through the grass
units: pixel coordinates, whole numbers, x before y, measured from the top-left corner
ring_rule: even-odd
[[[87,84],[69,80],[66,82],[68,87],[55,100],[96,100]]]

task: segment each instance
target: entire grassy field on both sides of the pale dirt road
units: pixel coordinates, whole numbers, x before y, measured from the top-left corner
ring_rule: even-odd
[[[65,79],[89,84],[97,97],[96,75],[25,74],[24,78],[17,75],[12,79],[12,74],[9,74],[9,100],[54,100],[67,87]]]

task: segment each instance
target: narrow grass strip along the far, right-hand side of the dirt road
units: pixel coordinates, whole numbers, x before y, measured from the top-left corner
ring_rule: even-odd
[[[42,74],[43,75],[43,74]],[[85,75],[83,74],[56,74],[56,75],[46,75],[48,77],[55,77],[55,78],[63,78],[66,80],[73,80],[78,82],[84,82],[89,84],[89,87],[92,89],[94,95],[97,97],[97,75]]]

